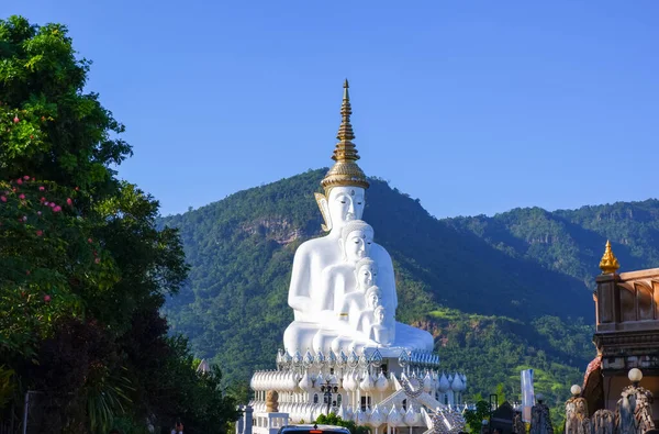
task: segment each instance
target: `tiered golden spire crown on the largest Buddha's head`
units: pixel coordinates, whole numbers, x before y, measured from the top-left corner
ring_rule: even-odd
[[[332,187],[337,186],[368,188],[366,175],[364,175],[364,171],[357,166],[357,163],[355,163],[359,159],[359,155],[353,143],[355,133],[353,132],[353,125],[350,124],[353,109],[350,107],[348,88],[348,80],[346,79],[344,82],[343,103],[340,104],[342,121],[340,126],[338,127],[338,134],[336,135],[338,143],[332,155],[332,159],[336,163],[321,181],[321,186],[325,189],[325,193],[327,193]]]

